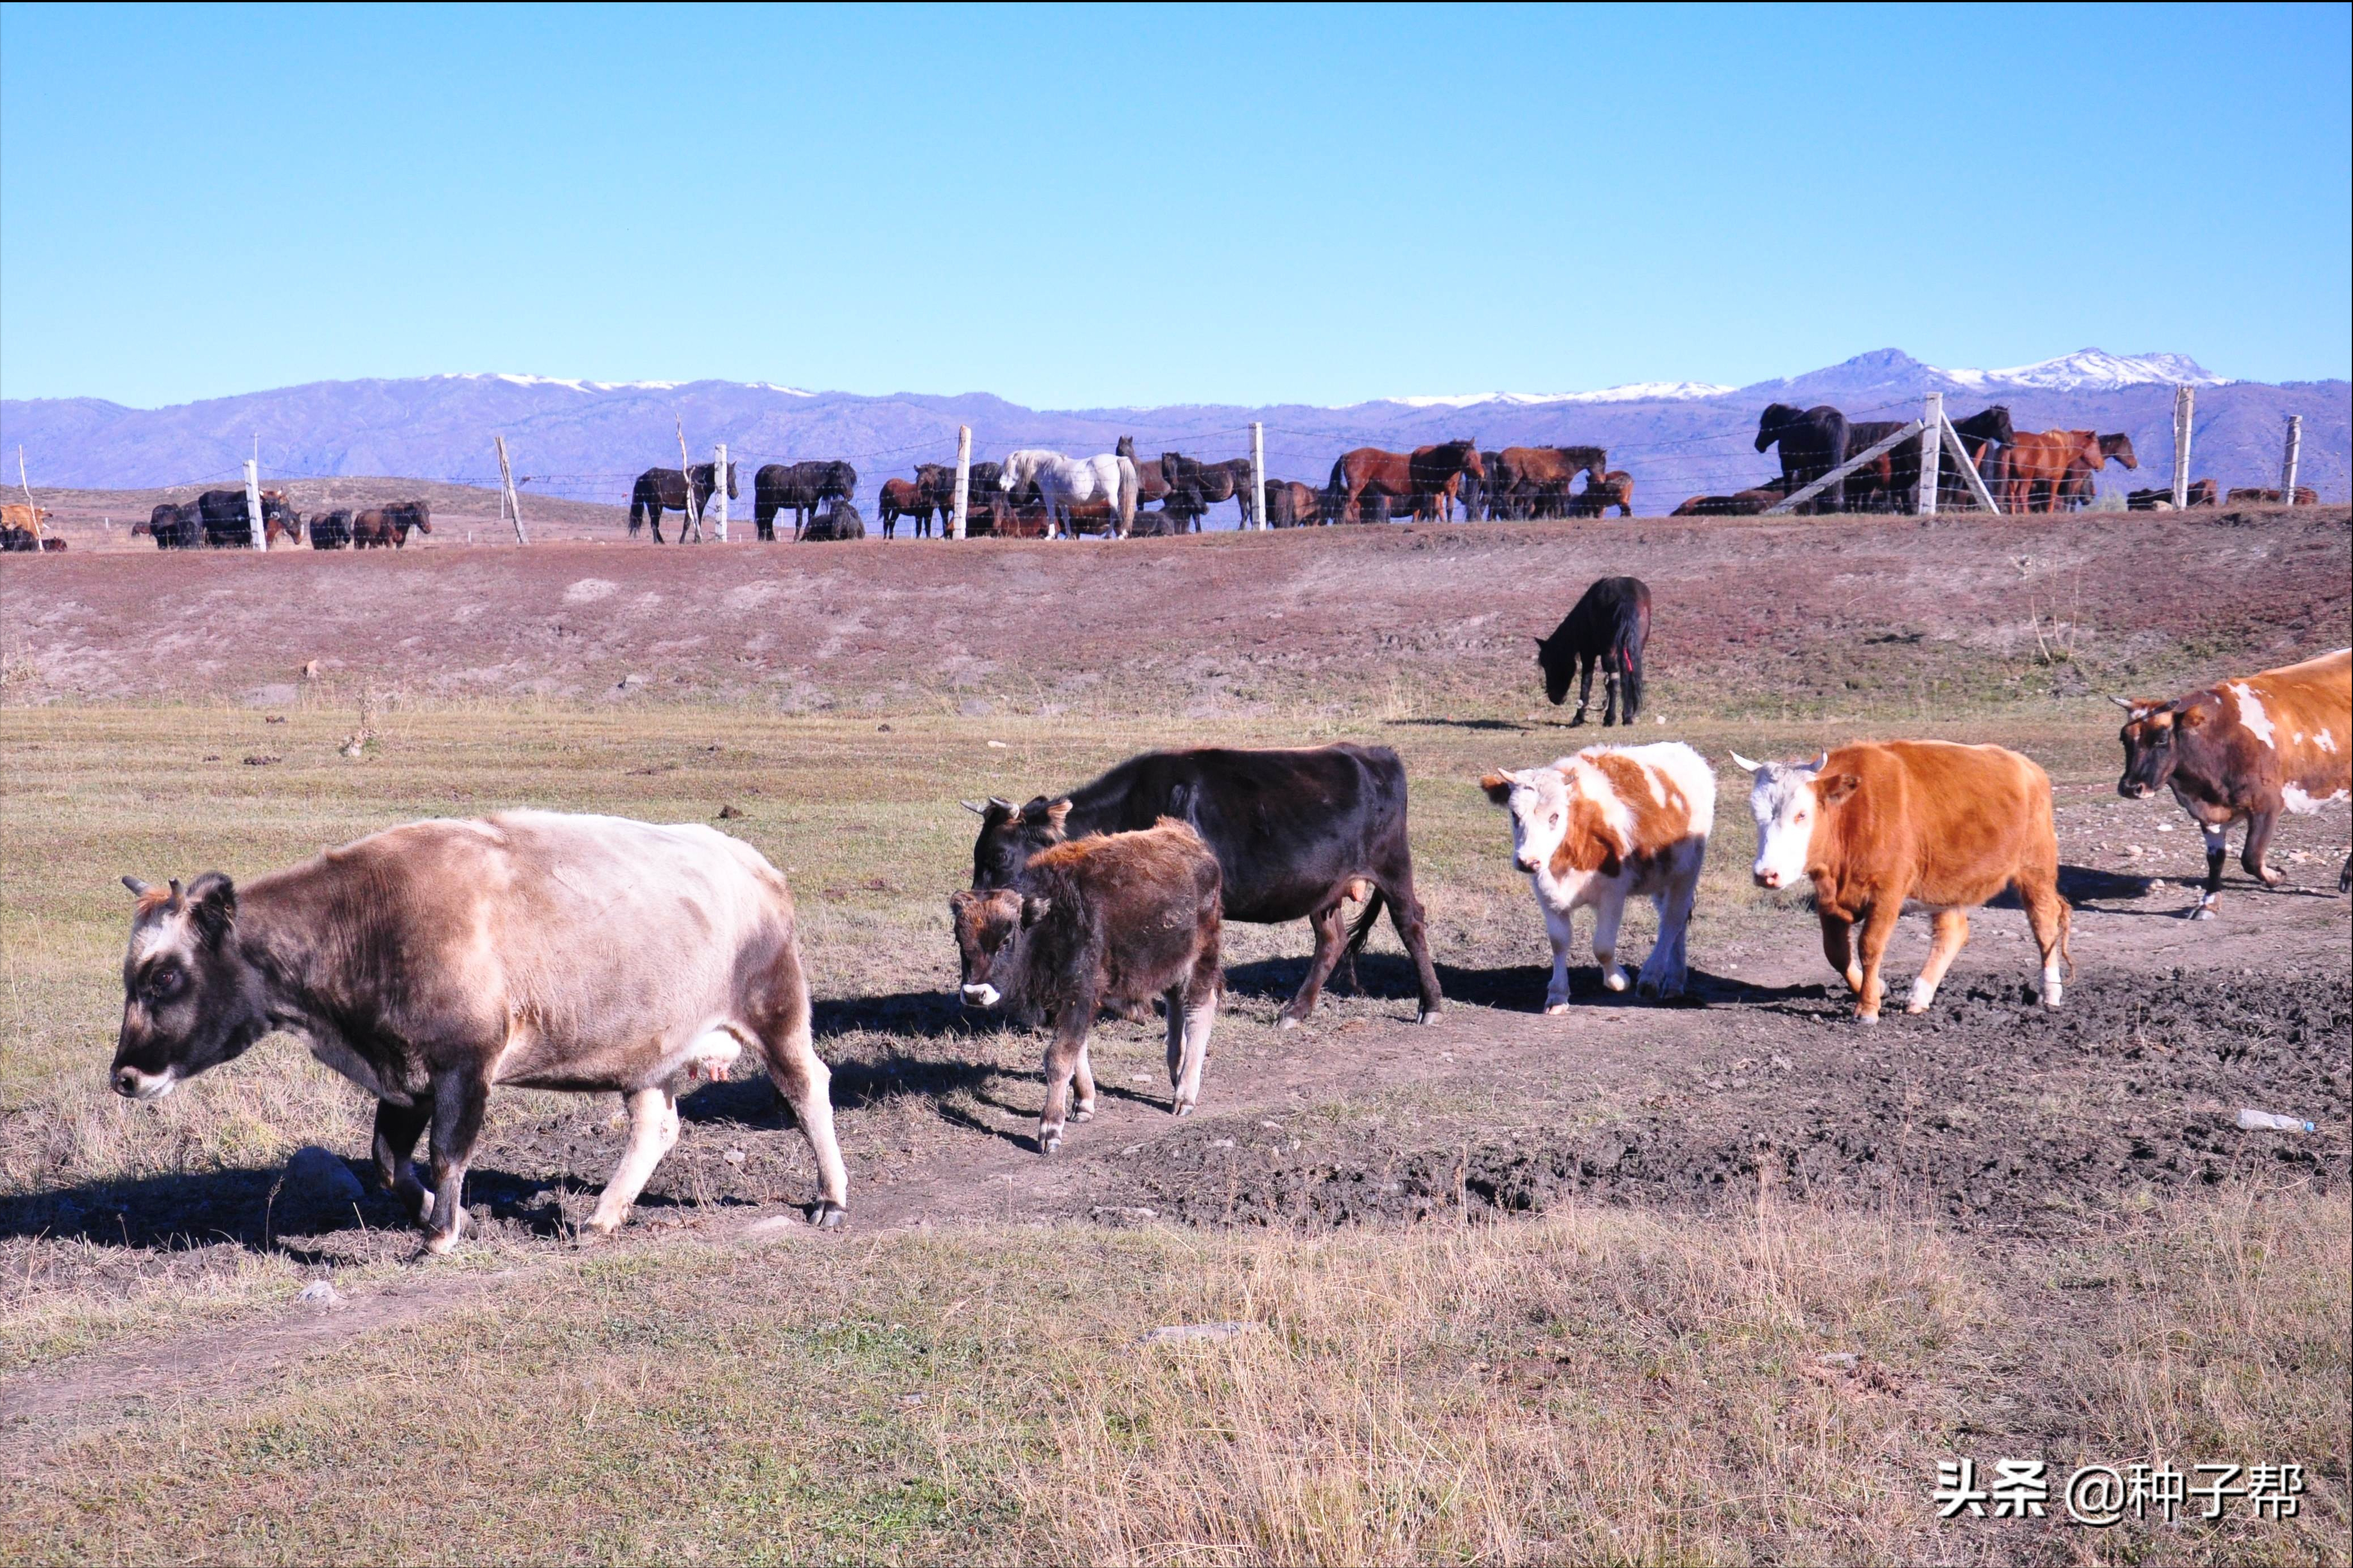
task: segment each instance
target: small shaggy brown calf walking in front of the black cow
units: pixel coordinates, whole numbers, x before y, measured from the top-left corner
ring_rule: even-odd
[[[1059,811],[1068,816],[1071,802]],[[1056,818],[1056,830],[1061,818]],[[1061,1147],[1078,1077],[1078,1121],[1094,1117],[1087,1034],[1104,1006],[1167,999],[1172,1110],[1200,1103],[1200,1072],[1217,1023],[1217,856],[1188,823],[1160,818],[1141,832],[1068,839],[1028,858],[1012,886],[948,900],[969,1006],[1049,1020],[1038,1152]]]

